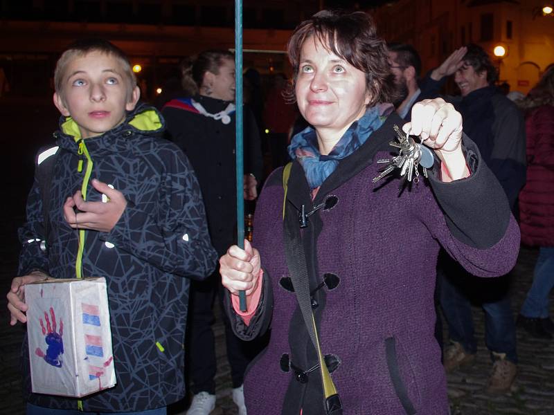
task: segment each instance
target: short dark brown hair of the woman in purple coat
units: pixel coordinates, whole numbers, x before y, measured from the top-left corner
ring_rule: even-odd
[[[377,29],[370,15],[364,12],[346,13],[321,10],[303,21],[292,33],[287,52],[292,64],[292,83],[287,98],[295,99],[294,87],[298,77],[300,55],[304,42],[315,37],[332,53],[366,73],[366,88],[370,95],[368,107],[378,102],[393,102],[394,75],[388,62],[386,43],[377,37]]]

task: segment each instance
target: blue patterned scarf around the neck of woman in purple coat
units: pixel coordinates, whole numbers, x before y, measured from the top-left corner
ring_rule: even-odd
[[[368,108],[363,117],[352,122],[339,142],[327,156],[319,152],[316,131],[307,127],[294,136],[289,145],[289,155],[298,159],[310,189],[316,189],[330,176],[339,165],[339,160],[350,156],[369,138],[373,131],[382,126],[388,114],[393,111],[392,104],[377,104]]]

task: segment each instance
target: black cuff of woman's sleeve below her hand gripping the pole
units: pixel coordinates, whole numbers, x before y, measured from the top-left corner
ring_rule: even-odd
[[[273,291],[271,291],[271,282],[269,275],[264,270],[264,282],[262,287],[262,295],[256,309],[256,314],[250,320],[247,326],[242,318],[235,313],[233,304],[231,303],[231,293],[225,293],[225,312],[229,316],[233,333],[241,340],[253,340],[264,335],[269,324],[271,323],[271,315],[273,315]]]

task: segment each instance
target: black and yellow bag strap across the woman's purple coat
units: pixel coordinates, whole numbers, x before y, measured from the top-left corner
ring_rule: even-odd
[[[308,282],[306,257],[302,245],[300,227],[297,220],[290,218],[291,214],[294,215],[296,213],[291,212],[294,207],[290,204],[287,205],[286,202],[289,173],[290,167],[285,168],[283,173],[283,187],[285,189],[285,201],[283,202],[283,243],[285,245],[287,266],[307,332],[310,334],[310,338],[312,339],[312,343],[314,344],[319,358],[321,381],[323,384],[323,393],[325,394],[325,412],[328,415],[342,415],[341,399],[337,393],[337,389],[334,387],[327,365],[325,365],[325,360],[323,359],[323,353],[321,353],[321,348],[319,347],[316,323],[314,314],[312,313],[312,302],[310,301],[310,284]],[[285,177],[285,175],[287,177]],[[289,217],[287,218],[287,216]]]

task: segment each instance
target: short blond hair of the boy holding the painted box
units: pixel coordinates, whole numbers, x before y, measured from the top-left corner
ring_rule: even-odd
[[[127,55],[123,53],[123,50],[105,39],[80,39],[73,42],[73,44],[69,45],[64,50],[60,59],[57,59],[54,71],[54,87],[56,93],[63,96],[63,82],[67,64],[69,64],[72,59],[75,59],[75,57],[82,57],[93,51],[112,55],[120,61],[123,73],[127,77],[129,83],[127,93],[129,93],[130,96],[136,86],[136,76],[132,71],[129,59]]]

